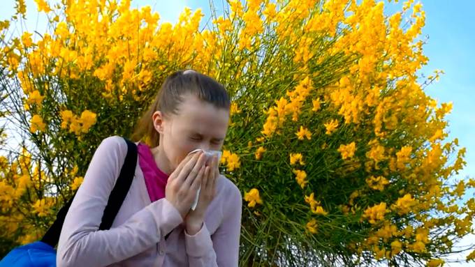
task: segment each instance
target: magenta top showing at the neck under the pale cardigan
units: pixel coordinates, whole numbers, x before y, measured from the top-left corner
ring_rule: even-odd
[[[150,151],[149,146],[146,144],[138,144],[138,161],[145,178],[150,201],[154,202],[165,197],[168,174],[156,166],[154,155],[152,155],[152,151]]]

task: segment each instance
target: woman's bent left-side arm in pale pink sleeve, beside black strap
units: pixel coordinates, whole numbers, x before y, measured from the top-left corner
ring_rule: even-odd
[[[177,209],[160,199],[119,227],[98,230],[126,151],[122,137],[108,137],[97,148],[64,220],[57,266],[107,266],[122,261],[147,250],[182,223]]]

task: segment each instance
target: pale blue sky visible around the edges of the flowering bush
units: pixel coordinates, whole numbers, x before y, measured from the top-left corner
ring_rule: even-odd
[[[27,29],[32,31],[38,25],[38,31],[43,32],[45,23],[41,17],[38,19],[34,1],[26,2]],[[221,0],[215,2],[221,5]],[[455,178],[475,177],[475,1],[421,2],[426,13],[423,35],[429,37],[424,51],[430,59],[422,72],[430,75],[434,70],[442,69],[446,73],[439,82],[429,86],[426,93],[439,103],[453,102],[453,111],[447,117],[449,138],[458,137],[460,146],[467,147],[467,166]],[[8,19],[14,13],[14,5],[13,0],[2,1],[0,20]],[[208,0],[135,0],[131,6],[151,6],[159,12],[162,22],[176,22],[185,6],[192,9],[202,8],[205,18],[209,17]],[[397,5],[388,5],[388,13],[394,10],[395,6]],[[465,242],[473,244],[472,240],[468,238]]]

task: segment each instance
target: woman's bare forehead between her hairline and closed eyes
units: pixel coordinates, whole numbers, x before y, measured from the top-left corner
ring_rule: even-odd
[[[229,112],[187,94],[183,96],[173,121],[174,124],[180,124],[182,130],[224,137],[228,129]]]

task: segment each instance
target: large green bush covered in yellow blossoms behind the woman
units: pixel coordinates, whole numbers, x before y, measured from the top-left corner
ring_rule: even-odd
[[[451,103],[423,90],[441,74],[420,73],[425,13],[358,2],[230,0],[200,30],[200,10],[169,24],[126,0],[36,0],[48,32],[1,45],[1,253],[39,238],[101,139],[129,136],[166,75],[193,68],[233,100],[221,164],[246,204],[243,266],[443,264],[474,232],[475,181],[453,179]]]

